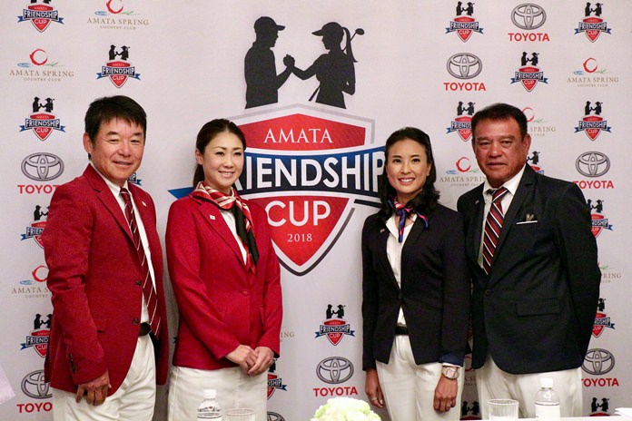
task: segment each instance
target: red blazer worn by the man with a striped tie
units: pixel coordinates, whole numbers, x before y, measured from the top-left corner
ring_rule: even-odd
[[[160,338],[154,341],[156,380],[169,363],[169,333],[163,290],[163,253],[152,198],[129,185],[152,253]],[[140,325],[142,269],[132,234],[116,198],[88,165],[84,174],[58,187],[42,235],[53,293],[53,325],[44,362],[45,380],[68,392],[108,370],[112,395],[127,375]]]

